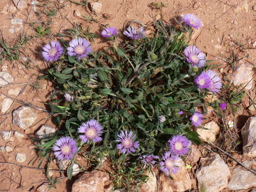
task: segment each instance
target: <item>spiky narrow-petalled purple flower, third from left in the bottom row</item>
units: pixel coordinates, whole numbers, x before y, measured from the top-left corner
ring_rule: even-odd
[[[127,133],[127,130],[121,131],[120,134],[117,135],[117,142],[121,142],[116,147],[121,151],[122,154],[134,153],[139,148],[139,141],[135,141],[135,133],[130,131]]]

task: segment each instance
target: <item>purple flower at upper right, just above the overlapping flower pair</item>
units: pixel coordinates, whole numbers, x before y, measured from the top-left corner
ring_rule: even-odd
[[[186,56],[186,59],[191,63],[192,67],[201,68],[205,64],[205,54],[199,50],[196,46],[187,46],[183,52]]]

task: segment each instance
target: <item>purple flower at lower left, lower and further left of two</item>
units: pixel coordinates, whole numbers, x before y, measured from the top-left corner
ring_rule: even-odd
[[[57,159],[68,161],[77,152],[76,141],[68,136],[61,137],[54,143],[52,150]]]

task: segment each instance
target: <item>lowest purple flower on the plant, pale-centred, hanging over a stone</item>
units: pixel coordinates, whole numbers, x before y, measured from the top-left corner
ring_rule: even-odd
[[[181,162],[178,155],[174,155],[171,151],[165,152],[162,157],[162,162],[159,163],[161,167],[159,168],[163,171],[167,176],[170,175],[170,171],[174,174],[178,173]]]

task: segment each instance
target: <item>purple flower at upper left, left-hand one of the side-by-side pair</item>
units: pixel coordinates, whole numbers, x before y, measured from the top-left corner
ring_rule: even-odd
[[[42,56],[45,61],[57,61],[63,53],[63,47],[58,41],[52,41],[50,44],[44,45]]]

